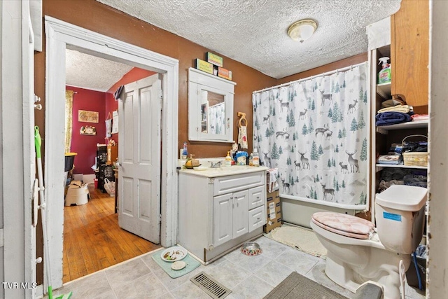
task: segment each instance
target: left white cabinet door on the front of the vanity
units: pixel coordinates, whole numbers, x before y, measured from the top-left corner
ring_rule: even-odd
[[[216,247],[231,239],[232,193],[213,197],[213,245]]]

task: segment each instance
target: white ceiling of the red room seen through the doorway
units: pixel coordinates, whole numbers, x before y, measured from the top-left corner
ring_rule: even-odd
[[[106,92],[132,67],[67,49],[66,85]]]

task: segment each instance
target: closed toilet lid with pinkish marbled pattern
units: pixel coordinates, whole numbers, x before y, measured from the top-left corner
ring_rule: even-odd
[[[314,213],[311,220],[325,230],[357,239],[368,239],[374,228],[372,222],[363,218],[334,212]]]

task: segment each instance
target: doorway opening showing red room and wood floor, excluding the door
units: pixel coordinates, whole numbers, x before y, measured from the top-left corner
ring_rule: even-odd
[[[77,50],[67,49],[65,56],[65,151],[74,163],[64,190],[63,283],[160,247],[120,227],[118,192],[106,190],[107,181],[118,184],[120,113],[115,92],[156,73]]]

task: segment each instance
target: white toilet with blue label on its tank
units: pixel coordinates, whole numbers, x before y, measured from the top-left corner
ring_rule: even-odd
[[[365,281],[384,286],[384,298],[400,298],[399,263],[411,263],[423,235],[426,188],[391,186],[377,194],[377,227],[346,214],[318,212],[311,228],[328,251],[325,274],[352,291]]]

